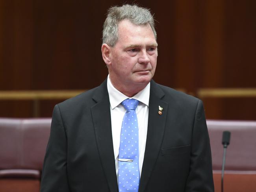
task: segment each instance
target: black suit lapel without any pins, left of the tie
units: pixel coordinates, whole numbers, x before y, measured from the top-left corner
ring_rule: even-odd
[[[95,91],[93,100],[95,100],[96,104],[91,107],[91,114],[102,167],[110,191],[118,192],[107,81],[104,81]]]

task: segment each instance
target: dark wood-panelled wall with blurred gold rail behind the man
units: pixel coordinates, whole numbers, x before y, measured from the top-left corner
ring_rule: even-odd
[[[51,117],[100,85],[102,25],[110,6],[154,13],[154,80],[204,102],[206,118],[256,120],[255,0],[0,0],[0,116]]]

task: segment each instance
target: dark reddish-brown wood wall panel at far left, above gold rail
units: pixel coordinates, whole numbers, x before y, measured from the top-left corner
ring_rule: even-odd
[[[1,89],[30,89],[33,58],[32,1],[2,2]],[[25,11],[24,11],[25,10]]]

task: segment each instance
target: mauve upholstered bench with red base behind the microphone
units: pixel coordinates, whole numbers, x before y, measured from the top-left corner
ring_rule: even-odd
[[[222,133],[230,131],[224,174],[225,192],[256,191],[256,121],[207,120],[215,192],[221,192]]]

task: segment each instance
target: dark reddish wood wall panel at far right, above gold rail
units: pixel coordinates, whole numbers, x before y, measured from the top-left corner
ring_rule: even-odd
[[[256,87],[256,1],[226,1],[223,87]]]

